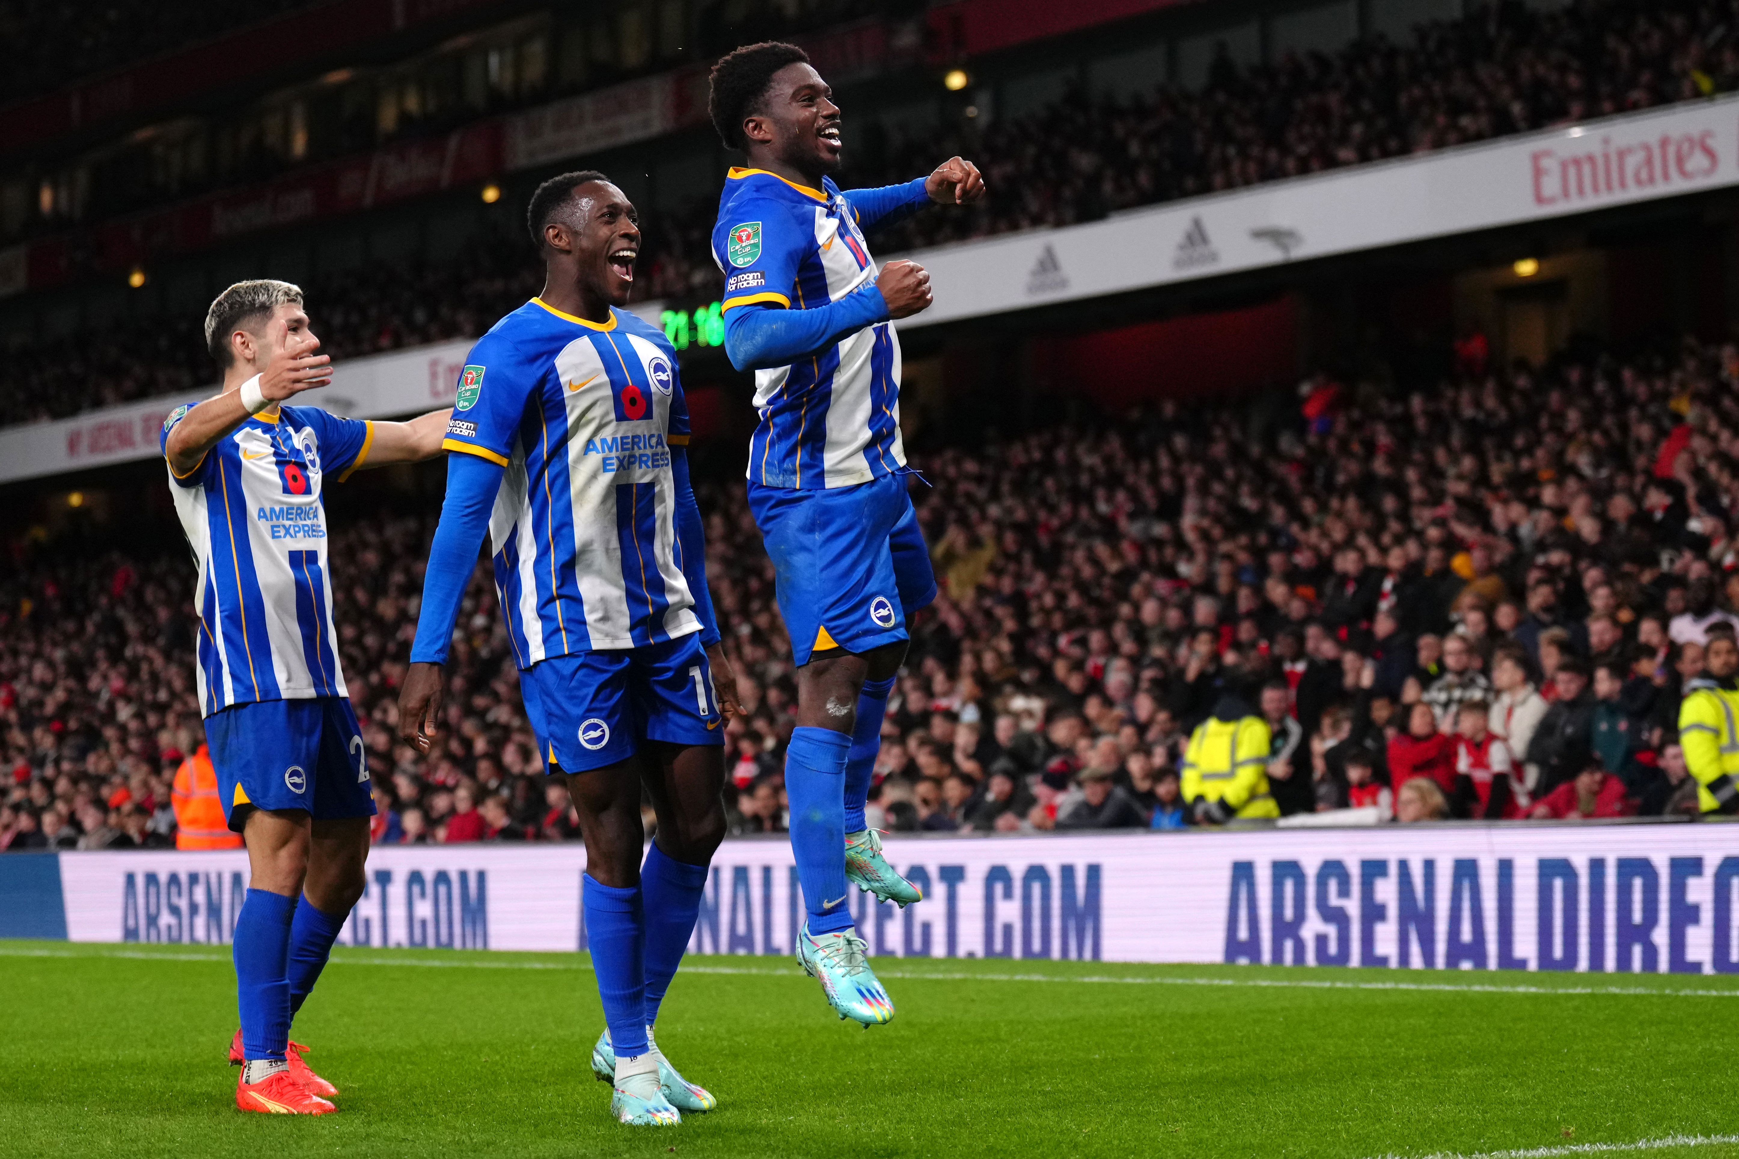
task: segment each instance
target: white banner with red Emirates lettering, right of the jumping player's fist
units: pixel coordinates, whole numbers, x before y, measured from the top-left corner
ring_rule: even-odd
[[[936,304],[901,328],[1125,294],[1313,257],[1739,184],[1739,97],[1374,162],[904,254]],[[1043,280],[1038,271],[1066,271]]]

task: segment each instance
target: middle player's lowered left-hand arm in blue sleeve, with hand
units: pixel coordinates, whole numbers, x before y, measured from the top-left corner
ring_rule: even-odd
[[[489,530],[489,513],[506,469],[480,455],[447,457],[447,499],[442,502],[435,542],[423,577],[423,610],[410,645],[410,671],[398,692],[398,735],[428,752],[438,732],[445,693],[447,648],[459,619],[459,601],[476,566],[476,547]]]

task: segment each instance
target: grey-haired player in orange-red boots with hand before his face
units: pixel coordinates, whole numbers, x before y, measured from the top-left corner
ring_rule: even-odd
[[[447,412],[339,419],[287,400],[332,381],[287,281],[238,281],[205,315],[223,393],[163,422],[193,546],[198,693],[230,829],[247,841],[235,926],[242,1110],[327,1114],[337,1089],[289,1041],[363,890],[374,799],[332,624],[327,478],[440,454]]]

